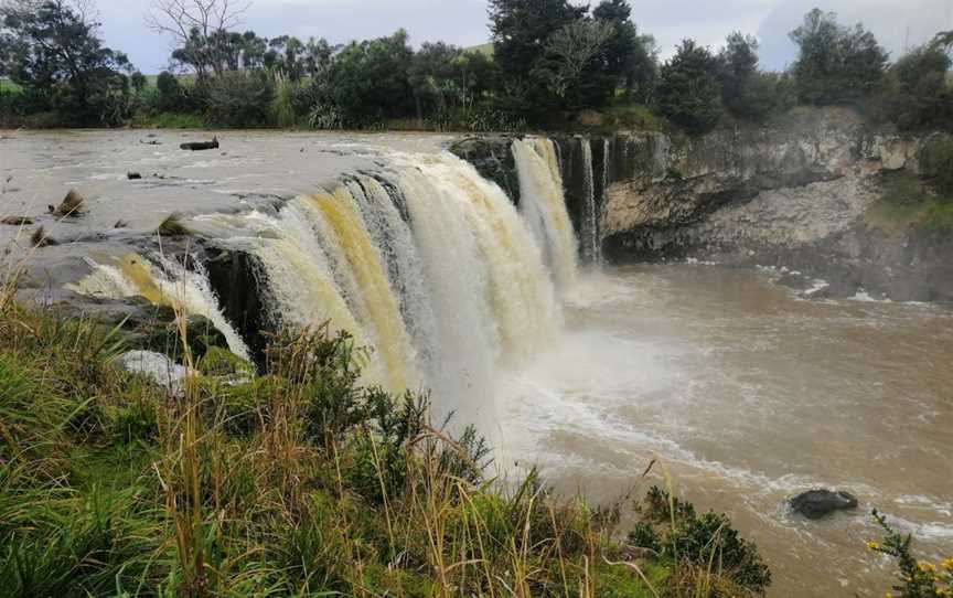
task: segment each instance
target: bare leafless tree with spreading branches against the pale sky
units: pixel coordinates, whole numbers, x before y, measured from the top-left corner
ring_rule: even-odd
[[[239,24],[250,6],[242,0],[152,0],[146,22],[172,38],[176,47],[173,58],[193,67],[199,78],[205,78],[222,73],[223,64],[228,64],[222,60],[222,52],[240,40],[227,32]]]

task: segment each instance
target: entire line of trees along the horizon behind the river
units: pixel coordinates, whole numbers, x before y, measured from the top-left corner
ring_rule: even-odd
[[[757,39],[740,32],[717,51],[684,40],[662,62],[628,0],[490,0],[492,45],[476,50],[443,42],[415,50],[404,30],[343,45],[267,39],[238,28],[247,8],[153,0],[147,22],[175,44],[153,85],[103,45],[88,0],[7,0],[0,115],[38,126],[179,114],[227,127],[479,131],[638,109],[700,134],[726,119],[763,122],[796,105],[845,105],[904,130],[953,126],[953,32],[891,63],[861,24],[843,25],[818,9],[790,33],[799,55],[779,73],[761,68]]]

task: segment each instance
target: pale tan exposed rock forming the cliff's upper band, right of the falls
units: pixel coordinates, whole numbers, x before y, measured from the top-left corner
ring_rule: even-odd
[[[681,141],[661,134],[622,136],[621,142],[630,154],[642,157],[636,159],[641,168],[609,186],[606,237],[693,224],[767,191],[907,168],[917,150],[913,140],[866,130],[846,110],[805,111],[761,130],[717,131]]]

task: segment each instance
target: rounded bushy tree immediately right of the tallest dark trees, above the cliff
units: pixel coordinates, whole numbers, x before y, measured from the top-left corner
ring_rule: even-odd
[[[721,117],[717,60],[694,40],[685,40],[662,66],[657,102],[662,114],[690,132],[709,130]]]

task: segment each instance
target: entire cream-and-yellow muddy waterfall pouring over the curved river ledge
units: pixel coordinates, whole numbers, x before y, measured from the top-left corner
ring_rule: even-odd
[[[450,153],[387,150],[386,168],[374,174],[345,177],[275,211],[195,216],[190,227],[259,267],[269,325],[330,322],[367,348],[366,381],[394,392],[431,388],[445,402],[457,399],[445,414],[464,409],[461,419],[479,421],[496,371],[557,340],[556,289],[577,270],[554,143],[527,139],[513,152],[522,210]],[[201,271],[173,280],[128,258],[97,265],[83,285],[86,292],[172,305],[183,281],[183,305],[247,356]]]

